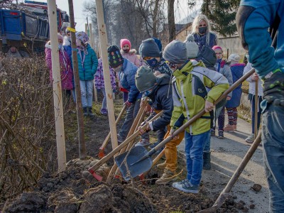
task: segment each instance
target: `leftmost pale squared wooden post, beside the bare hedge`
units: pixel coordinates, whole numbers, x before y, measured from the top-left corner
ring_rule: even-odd
[[[66,151],[58,49],[58,21],[56,1],[54,0],[48,0],[48,21],[50,28],[51,61],[53,69],[53,102],[55,115],[56,145],[58,151],[58,170],[62,171],[65,170],[66,167]]]

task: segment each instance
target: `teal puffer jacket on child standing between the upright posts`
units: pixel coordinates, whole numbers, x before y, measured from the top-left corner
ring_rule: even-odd
[[[91,48],[89,44],[87,44],[88,55],[84,58],[84,51],[81,51],[82,59],[84,58],[84,69],[82,67],[82,60],[80,57],[80,53],[78,50],[77,58],[78,58],[78,70],[80,80],[93,80],[94,74],[97,72],[98,59],[94,50]]]

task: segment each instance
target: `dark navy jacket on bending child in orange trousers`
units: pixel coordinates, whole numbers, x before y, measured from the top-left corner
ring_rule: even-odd
[[[163,115],[151,123],[153,131],[158,131],[158,129],[170,124],[170,118],[172,117],[173,93],[170,76],[167,74],[158,75],[157,84],[153,88],[153,91],[148,94],[148,97],[152,100],[151,107],[153,109],[163,110]]]

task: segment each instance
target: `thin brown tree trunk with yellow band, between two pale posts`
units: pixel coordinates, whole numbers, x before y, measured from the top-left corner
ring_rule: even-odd
[[[86,153],[86,144],[84,142],[84,119],[83,119],[80,79],[78,71],[73,1],[68,0],[68,4],[69,4],[69,16],[70,16],[70,28],[68,29],[71,32],[73,75],[75,81],[76,108],[77,108],[77,121],[78,121],[78,133],[79,133],[79,155],[80,159],[84,160],[84,158],[87,157],[87,153]]]

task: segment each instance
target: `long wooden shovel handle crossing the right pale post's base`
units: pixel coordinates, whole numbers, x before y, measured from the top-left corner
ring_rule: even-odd
[[[158,119],[158,117],[160,117],[163,114],[163,111],[160,111],[158,114],[156,114],[155,116],[153,116],[153,118],[149,121],[153,121],[155,119]],[[141,129],[146,129],[148,124],[145,124],[142,126]],[[139,135],[139,131],[136,131],[133,133],[132,136],[130,136],[129,138],[127,138],[123,143],[119,144],[119,146],[117,146],[116,148],[114,148],[113,151],[111,151],[109,154],[107,154],[106,156],[104,156],[104,158],[102,158],[101,160],[99,160],[95,165],[93,165],[91,168],[89,168],[90,170],[97,170],[101,165],[103,165],[104,163],[107,162],[107,160],[109,160],[110,158],[112,158],[116,153],[118,153],[119,151],[121,151],[121,148],[124,148],[129,142],[133,141],[133,139],[135,139],[137,136]]]

